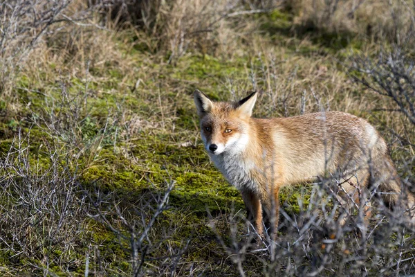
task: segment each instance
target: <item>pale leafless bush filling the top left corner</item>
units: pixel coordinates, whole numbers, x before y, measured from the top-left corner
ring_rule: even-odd
[[[72,0],[13,0],[0,3],[0,89],[10,89],[15,73],[46,37],[62,31],[65,23],[82,24],[90,10]],[[82,6],[82,5],[81,5]],[[78,23],[79,22],[79,23]]]

